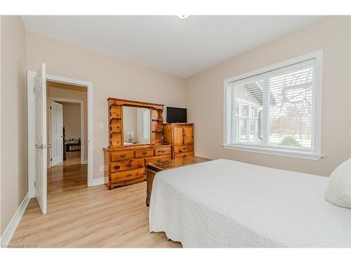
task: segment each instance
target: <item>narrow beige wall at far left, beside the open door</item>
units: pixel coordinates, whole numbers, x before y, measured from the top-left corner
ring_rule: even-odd
[[[1,234],[27,194],[25,27],[1,16]]]

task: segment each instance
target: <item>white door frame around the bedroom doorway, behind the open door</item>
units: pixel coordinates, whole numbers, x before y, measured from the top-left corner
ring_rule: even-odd
[[[29,198],[35,197],[35,135],[34,135],[34,76],[36,72],[27,71],[27,128],[28,128],[28,191]],[[78,79],[69,79],[64,76],[46,74],[46,81],[71,84],[87,88],[87,108],[88,108],[88,187],[93,182],[93,83]]]

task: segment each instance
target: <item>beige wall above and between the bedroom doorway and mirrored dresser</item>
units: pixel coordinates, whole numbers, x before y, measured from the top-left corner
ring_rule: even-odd
[[[103,177],[99,168],[102,148],[108,145],[107,97],[185,107],[184,79],[27,32],[27,68],[36,71],[41,62],[48,74],[93,82],[94,178]]]

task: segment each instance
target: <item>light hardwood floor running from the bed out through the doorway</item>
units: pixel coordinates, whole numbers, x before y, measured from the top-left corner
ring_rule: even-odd
[[[150,233],[146,182],[111,191],[86,187],[87,166],[48,170],[48,213],[29,202],[11,243],[38,247],[179,248],[164,233]]]

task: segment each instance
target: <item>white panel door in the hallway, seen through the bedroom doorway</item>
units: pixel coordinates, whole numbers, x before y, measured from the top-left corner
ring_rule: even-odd
[[[63,161],[62,104],[51,101],[51,166]]]

